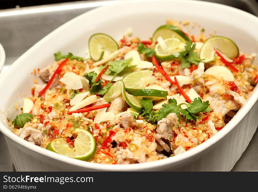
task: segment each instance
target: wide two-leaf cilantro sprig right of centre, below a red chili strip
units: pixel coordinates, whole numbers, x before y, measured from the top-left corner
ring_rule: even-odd
[[[157,121],[162,120],[162,118],[167,117],[170,113],[176,113],[177,117],[186,117],[187,120],[197,120],[199,118],[199,113],[210,112],[212,109],[209,107],[209,101],[203,102],[200,97],[195,98],[191,103],[180,103],[176,102],[176,99],[169,99],[169,104],[163,104],[159,112]],[[186,109],[182,109],[181,105],[186,105]],[[181,114],[180,114],[181,113]]]

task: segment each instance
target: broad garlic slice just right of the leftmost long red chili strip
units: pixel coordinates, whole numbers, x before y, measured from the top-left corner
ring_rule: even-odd
[[[60,82],[66,84],[71,89],[82,89],[82,81],[73,72],[66,72],[65,75],[59,80]]]

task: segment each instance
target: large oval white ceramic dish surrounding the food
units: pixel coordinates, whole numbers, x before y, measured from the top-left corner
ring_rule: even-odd
[[[258,125],[257,89],[235,117],[208,141],[178,156],[141,164],[102,165],[68,158],[20,139],[6,123],[6,115],[14,118],[19,113],[13,107],[20,104],[19,98],[30,96],[34,79],[30,72],[53,63],[56,51],[83,56],[91,34],[104,32],[119,39],[128,27],[133,29],[134,36],[147,39],[167,18],[196,21],[206,32],[216,28],[218,35],[233,39],[240,51],[258,52],[258,18],[220,4],[181,0],[123,1],[80,15],[35,44],[0,79],[0,90],[5,93],[0,100],[0,111],[4,112],[0,130],[6,137],[17,171],[229,171],[234,166]],[[195,34],[201,27],[195,27]]]

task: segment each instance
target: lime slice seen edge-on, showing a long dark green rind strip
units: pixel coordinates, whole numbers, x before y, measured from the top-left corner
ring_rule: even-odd
[[[153,97],[162,97],[167,98],[167,91],[161,91],[157,89],[131,89],[125,88],[125,91],[133,96],[153,96]],[[162,99],[159,98],[159,99]]]

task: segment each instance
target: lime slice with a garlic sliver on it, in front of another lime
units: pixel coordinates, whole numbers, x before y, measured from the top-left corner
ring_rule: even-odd
[[[157,43],[154,47],[155,56],[158,60],[171,60],[178,58],[180,53],[185,50],[185,43],[178,38],[172,37],[164,39],[165,45],[162,46],[161,43]],[[164,49],[164,46],[167,46],[167,49]]]

